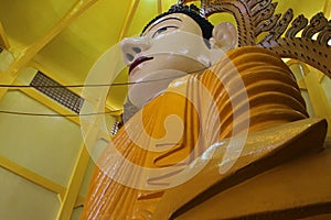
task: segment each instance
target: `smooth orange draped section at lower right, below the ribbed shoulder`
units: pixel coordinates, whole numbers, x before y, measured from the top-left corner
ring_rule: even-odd
[[[323,119],[290,122],[249,133],[241,154],[227,156],[231,139],[225,139],[178,176],[180,182],[200,169],[164,193],[152,219],[299,219],[329,213],[331,145],[323,151],[325,133]]]

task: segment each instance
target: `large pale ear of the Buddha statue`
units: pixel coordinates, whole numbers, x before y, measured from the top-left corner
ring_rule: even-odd
[[[236,28],[228,22],[221,22],[213,29],[213,36],[210,38],[212,50],[223,50],[224,52],[235,48],[238,43]]]

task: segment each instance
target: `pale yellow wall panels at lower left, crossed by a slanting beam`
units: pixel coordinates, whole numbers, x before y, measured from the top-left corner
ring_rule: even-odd
[[[19,90],[8,91],[0,109],[56,113]],[[0,140],[1,219],[55,219],[61,200],[52,189],[65,193],[83,143],[79,127],[62,117],[1,113]]]

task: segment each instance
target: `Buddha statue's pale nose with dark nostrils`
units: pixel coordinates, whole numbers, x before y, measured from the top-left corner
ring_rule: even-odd
[[[130,66],[141,52],[150,47],[150,41],[147,37],[130,37],[124,38],[120,42],[120,48],[124,56],[124,62]]]

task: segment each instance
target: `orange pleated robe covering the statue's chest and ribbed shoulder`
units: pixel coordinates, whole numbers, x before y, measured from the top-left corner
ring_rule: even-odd
[[[276,54],[234,50],[202,74],[172,81],[125,124],[114,139],[122,158],[105,150],[81,219],[149,219],[171,179],[213,143],[307,117],[295,77]],[[146,167],[173,169],[158,176]]]

